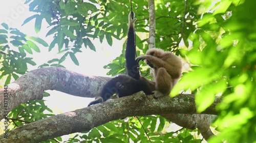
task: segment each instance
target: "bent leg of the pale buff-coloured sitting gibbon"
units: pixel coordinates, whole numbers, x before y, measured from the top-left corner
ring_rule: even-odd
[[[170,90],[173,88],[172,77],[167,73],[164,68],[157,69],[156,77],[156,91],[154,91],[155,98],[169,95]]]

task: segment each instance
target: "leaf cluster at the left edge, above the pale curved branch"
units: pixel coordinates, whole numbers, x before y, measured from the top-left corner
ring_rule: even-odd
[[[5,84],[9,84],[11,77],[15,80],[21,74],[28,71],[27,64],[35,66],[36,63],[27,54],[33,54],[33,51],[40,52],[39,45],[48,46],[48,44],[38,37],[28,37],[16,28],[10,28],[6,23],[2,23],[0,28],[0,79],[7,76]]]

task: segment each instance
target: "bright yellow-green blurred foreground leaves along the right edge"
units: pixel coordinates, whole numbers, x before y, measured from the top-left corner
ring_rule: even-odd
[[[207,9],[209,1],[201,7]],[[220,135],[209,142],[253,142],[255,133],[255,21],[254,1],[221,1],[213,13],[198,20],[198,30],[189,39],[193,49],[183,51],[191,64],[200,65],[184,74],[173,90],[195,90],[198,111],[206,109],[217,94],[223,102],[218,106],[216,121]],[[254,22],[252,22],[254,21]]]

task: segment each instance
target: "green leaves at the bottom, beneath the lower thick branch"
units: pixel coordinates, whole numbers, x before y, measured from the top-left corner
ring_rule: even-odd
[[[144,129],[142,128],[142,123]],[[74,136],[67,142],[200,142],[190,134],[191,130],[166,132],[170,124],[160,116],[131,117],[116,120],[83,132],[82,136]],[[150,137],[146,136],[146,133]],[[179,133],[177,135],[177,133]]]

